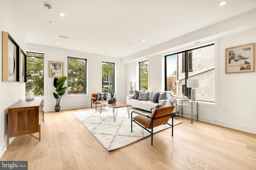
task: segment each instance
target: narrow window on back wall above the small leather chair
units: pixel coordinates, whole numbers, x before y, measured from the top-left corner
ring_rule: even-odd
[[[102,93],[114,92],[115,64],[102,62]]]

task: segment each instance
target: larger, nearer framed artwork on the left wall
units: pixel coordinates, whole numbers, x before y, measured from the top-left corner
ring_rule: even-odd
[[[20,47],[8,32],[2,31],[2,81],[20,80]]]

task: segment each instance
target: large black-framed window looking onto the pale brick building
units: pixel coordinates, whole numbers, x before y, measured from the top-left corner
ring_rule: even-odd
[[[200,79],[196,100],[215,102],[214,48],[211,44],[165,56],[166,90],[173,91],[177,98],[182,94],[190,98],[191,88],[186,87],[186,80]]]

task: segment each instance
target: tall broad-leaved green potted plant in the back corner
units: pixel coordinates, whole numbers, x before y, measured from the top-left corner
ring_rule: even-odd
[[[54,106],[55,111],[60,111],[60,99],[65,94],[67,90],[69,90],[71,87],[63,87],[64,82],[67,80],[66,76],[63,76],[62,78],[54,78],[53,80],[53,86],[56,88],[56,92],[53,92],[54,98],[56,98],[56,104]]]

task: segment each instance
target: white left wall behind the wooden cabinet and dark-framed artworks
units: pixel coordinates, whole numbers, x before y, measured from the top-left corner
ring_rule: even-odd
[[[0,156],[6,150],[8,107],[25,98],[25,84],[2,81],[2,31],[8,32],[21,49],[26,50],[26,35],[9,2],[1,0],[0,5]]]

